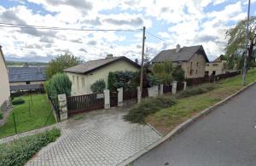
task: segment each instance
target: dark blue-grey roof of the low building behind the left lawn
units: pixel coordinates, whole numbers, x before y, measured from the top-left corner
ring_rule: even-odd
[[[45,80],[44,67],[9,67],[9,83]]]

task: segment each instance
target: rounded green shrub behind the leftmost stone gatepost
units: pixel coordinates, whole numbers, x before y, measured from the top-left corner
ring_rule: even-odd
[[[71,94],[72,83],[66,73],[57,73],[45,83],[46,93],[53,99],[57,100],[58,94]]]

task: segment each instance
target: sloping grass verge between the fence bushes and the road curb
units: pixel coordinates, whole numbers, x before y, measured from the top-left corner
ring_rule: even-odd
[[[255,81],[256,71],[247,73],[247,84]],[[162,134],[166,135],[177,124],[183,123],[189,117],[212,106],[220,100],[224,100],[230,94],[236,93],[241,86],[241,75],[227,78],[216,83],[217,87],[206,94],[199,94],[177,100],[177,104],[146,117],[146,122],[153,125]]]

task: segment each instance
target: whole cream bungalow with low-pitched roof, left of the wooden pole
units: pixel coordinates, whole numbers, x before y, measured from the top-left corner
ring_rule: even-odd
[[[125,56],[113,57],[109,54],[105,59],[90,60],[78,66],[64,70],[72,82],[72,95],[91,94],[91,84],[103,79],[108,87],[108,73],[117,71],[138,72],[140,66]]]

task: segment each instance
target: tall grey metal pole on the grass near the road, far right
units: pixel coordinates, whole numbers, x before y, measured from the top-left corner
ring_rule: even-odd
[[[246,52],[244,54],[243,70],[242,70],[242,86],[246,85],[246,72],[247,72],[247,58],[248,53],[248,28],[249,28],[249,19],[250,19],[250,5],[251,0],[248,1],[248,10],[247,10],[247,31],[246,31]]]

